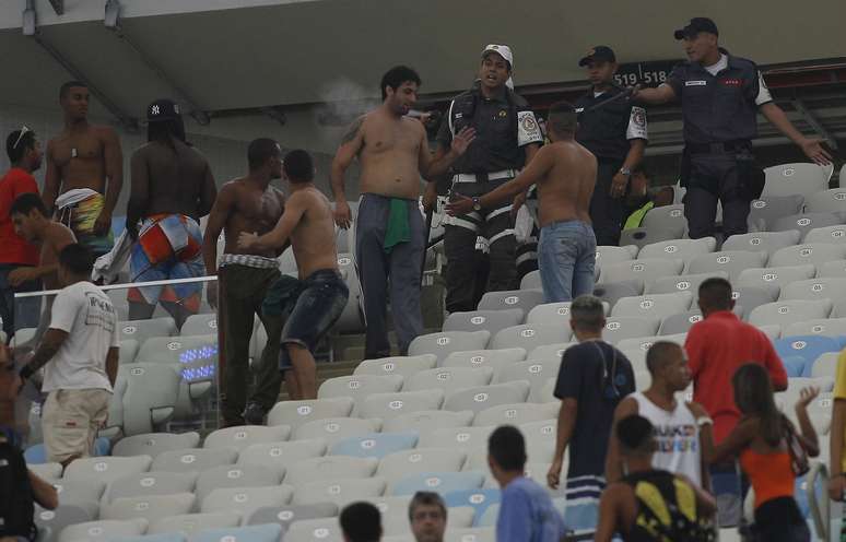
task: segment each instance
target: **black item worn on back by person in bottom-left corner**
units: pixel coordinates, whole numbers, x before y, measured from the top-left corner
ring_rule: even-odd
[[[23,453],[0,440],[0,538],[35,540],[34,514],[33,487]]]

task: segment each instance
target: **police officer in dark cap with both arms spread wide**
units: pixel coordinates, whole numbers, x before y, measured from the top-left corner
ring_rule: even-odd
[[[673,35],[690,61],[675,67],[657,89],[635,91],[634,98],[656,105],[681,101],[681,182],[688,187],[684,214],[690,237],[714,234],[717,201],[722,202],[724,237],[743,234],[749,203],[761,196],[764,185],[751,143],[757,136],[759,111],[813,162],[824,165],[831,156],[820,140],[802,136],[773,103],[754,62],[719,47],[714,21],[694,17]]]

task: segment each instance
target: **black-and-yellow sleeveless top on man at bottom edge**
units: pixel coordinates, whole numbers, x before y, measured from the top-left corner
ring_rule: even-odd
[[[667,471],[630,474],[623,482],[632,486],[637,516],[626,540],[712,542],[714,528],[700,518],[696,495],[688,483]]]

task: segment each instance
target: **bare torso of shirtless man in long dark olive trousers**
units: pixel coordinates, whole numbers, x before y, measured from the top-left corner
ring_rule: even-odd
[[[221,198],[231,201],[228,214],[223,226],[226,238],[226,254],[249,254],[275,258],[281,250],[245,250],[238,248],[238,235],[242,232],[265,235],[273,229],[285,209],[285,196],[281,190],[268,186],[261,188],[256,182],[239,178],[226,182],[221,188]]]

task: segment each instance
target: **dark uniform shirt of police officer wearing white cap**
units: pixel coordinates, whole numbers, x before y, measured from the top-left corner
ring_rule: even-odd
[[[469,101],[474,101],[475,105],[472,106],[472,117],[467,119],[460,109],[461,104],[471,103]],[[509,114],[512,106],[516,109],[516,118]],[[484,97],[478,87],[456,96],[440,123],[437,142],[443,149],[449,149],[453,136],[467,126],[475,128],[475,140],[453,164],[455,173],[519,169],[526,163],[525,146],[543,142],[529,104],[505,87],[492,98]]]

